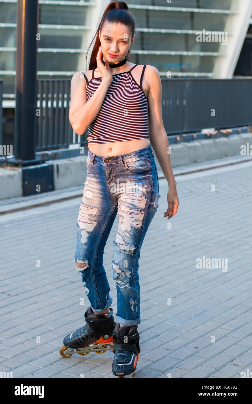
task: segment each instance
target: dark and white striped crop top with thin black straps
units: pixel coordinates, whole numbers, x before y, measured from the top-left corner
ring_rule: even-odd
[[[131,70],[114,74],[104,101],[88,127],[87,143],[110,143],[136,139],[149,139],[148,99],[142,88],[144,65],[140,85],[131,75]],[[94,73],[94,70],[93,70]],[[102,77],[87,81],[87,101],[100,86]]]

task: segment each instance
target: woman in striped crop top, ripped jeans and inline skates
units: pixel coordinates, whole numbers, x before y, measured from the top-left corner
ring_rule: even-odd
[[[89,70],[72,78],[69,111],[77,134],[89,129],[87,179],[74,257],[91,305],[85,312],[85,326],[67,335],[64,345],[76,349],[103,343],[100,347],[114,338],[112,372],[119,377],[132,376],[136,371],[140,352],[138,260],[161,196],[150,142],[169,185],[164,217],[174,216],[179,204],[167,154],[159,72],[151,65],[134,65],[125,57],[134,42],[134,31],[127,4],[109,3],[95,34]],[[103,254],[116,215],[114,318]]]

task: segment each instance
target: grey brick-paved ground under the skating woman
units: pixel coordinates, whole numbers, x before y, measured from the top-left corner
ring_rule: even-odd
[[[159,208],[141,250],[136,377],[239,378],[252,371],[251,173],[246,162],[177,177],[180,206],[169,230],[167,184],[159,180]],[[79,204],[78,198],[0,217],[0,371],[13,377],[114,377],[111,351],[58,353],[63,337],[85,324],[89,305],[73,261]],[[104,254],[114,311],[116,225]],[[203,256],[227,259],[227,271],[197,269]]]

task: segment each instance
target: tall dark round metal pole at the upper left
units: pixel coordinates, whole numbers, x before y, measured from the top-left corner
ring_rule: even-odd
[[[35,160],[38,0],[17,0],[15,160]]]

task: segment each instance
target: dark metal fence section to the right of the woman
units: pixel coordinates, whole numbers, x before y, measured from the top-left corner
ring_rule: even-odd
[[[252,79],[162,78],[161,82],[167,135],[252,123]]]

